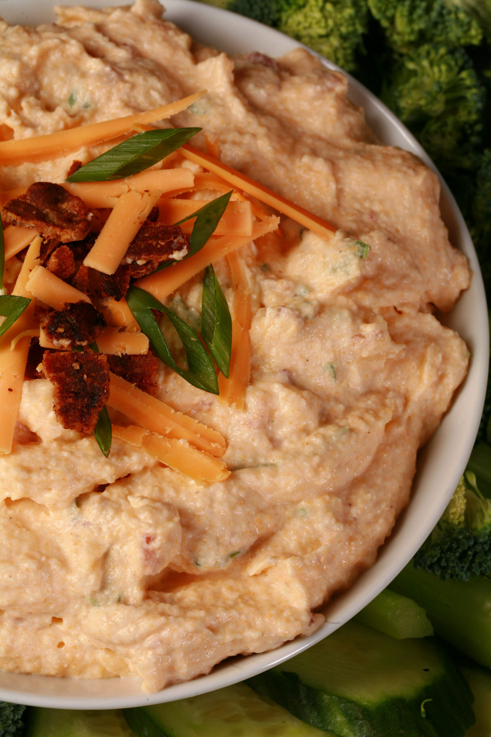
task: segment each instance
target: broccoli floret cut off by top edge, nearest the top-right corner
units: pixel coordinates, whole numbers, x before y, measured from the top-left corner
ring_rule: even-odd
[[[430,41],[452,49],[478,45],[483,38],[478,18],[467,8],[477,2],[368,0],[368,4],[389,43],[400,52]]]

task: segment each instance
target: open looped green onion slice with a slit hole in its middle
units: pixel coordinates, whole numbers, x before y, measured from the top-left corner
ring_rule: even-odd
[[[161,361],[172,368],[176,374],[186,379],[190,384],[211,394],[218,394],[218,381],[211,358],[203,348],[198,336],[186,322],[174,315],[174,312],[163,306],[158,299],[138,287],[130,287],[127,291],[126,301],[130,307],[133,317],[141,327],[141,332],[148,337],[150,345]],[[183,342],[186,358],[188,359],[188,370],[184,371],[177,366],[172,358],[166,340],[160,331],[152,310],[158,310],[167,315],[172,325]]]

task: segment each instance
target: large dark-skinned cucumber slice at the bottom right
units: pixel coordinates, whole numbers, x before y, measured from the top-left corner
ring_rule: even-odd
[[[434,640],[395,640],[350,621],[247,683],[339,737],[464,737],[473,695]]]

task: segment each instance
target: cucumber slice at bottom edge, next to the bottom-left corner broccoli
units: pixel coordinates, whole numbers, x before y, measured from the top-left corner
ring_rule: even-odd
[[[29,707],[25,737],[135,737],[120,710]]]

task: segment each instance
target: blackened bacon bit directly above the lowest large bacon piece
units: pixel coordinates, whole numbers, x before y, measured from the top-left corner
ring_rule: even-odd
[[[39,326],[54,346],[68,349],[92,343],[107,322],[95,307],[80,301],[66,304],[63,310],[49,310],[40,318]]]

